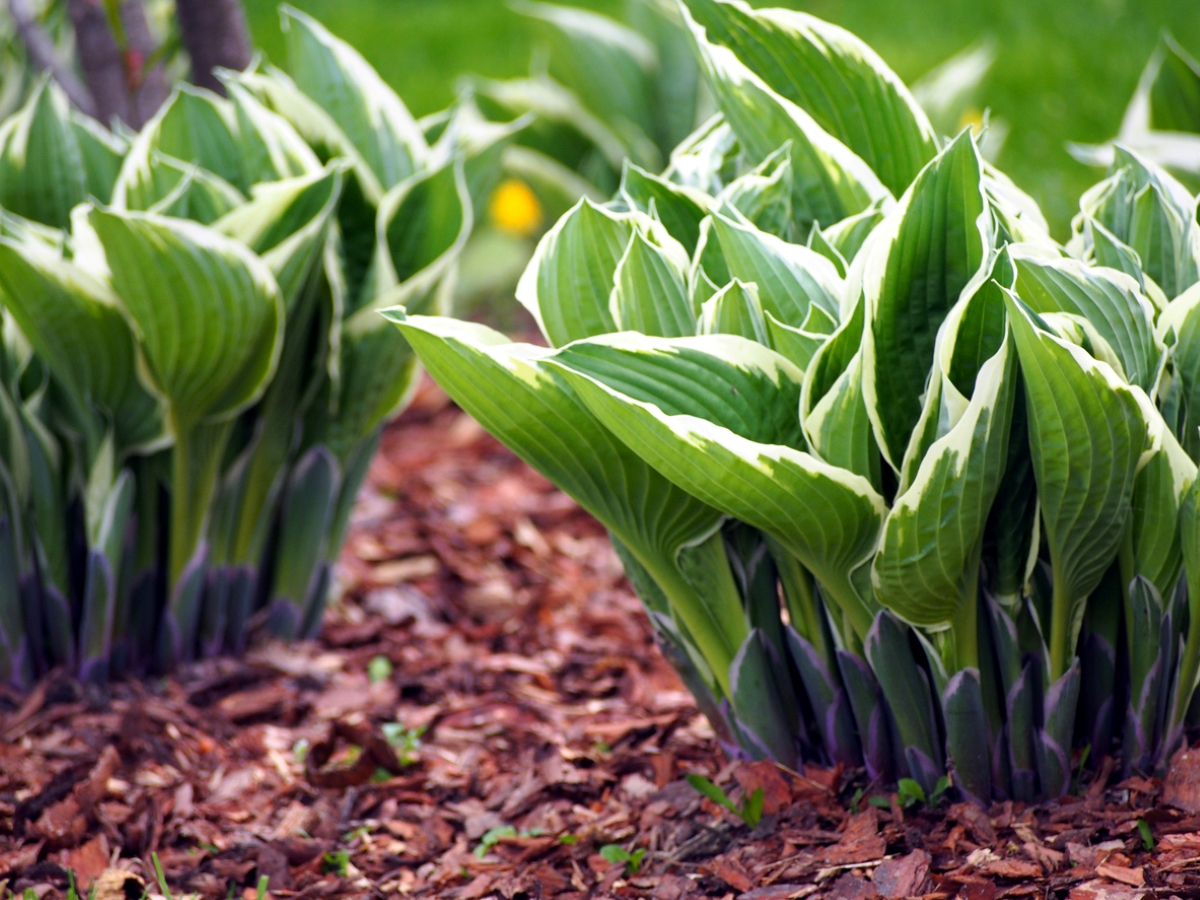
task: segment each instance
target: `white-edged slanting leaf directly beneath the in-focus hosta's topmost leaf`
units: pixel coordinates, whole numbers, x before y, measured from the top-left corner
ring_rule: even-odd
[[[792,218],[799,227],[838,222],[862,212],[890,192],[850,148],[804,109],[780,96],[726,47],[710,43],[688,16],[701,68],[716,104],[751,162],[792,143]]]

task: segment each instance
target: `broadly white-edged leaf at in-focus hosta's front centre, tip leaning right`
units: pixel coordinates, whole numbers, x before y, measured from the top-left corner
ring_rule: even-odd
[[[1006,340],[979,370],[966,412],[925,452],[883,524],[872,581],[878,601],[917,625],[954,622],[976,602],[984,526],[1008,455],[1016,353]]]

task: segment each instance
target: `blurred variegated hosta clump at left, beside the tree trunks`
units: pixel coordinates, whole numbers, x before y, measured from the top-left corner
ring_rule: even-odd
[[[314,634],[515,127],[431,143],[318,23],[292,72],[181,85],[136,136],[43,83],[0,126],[0,682]]]

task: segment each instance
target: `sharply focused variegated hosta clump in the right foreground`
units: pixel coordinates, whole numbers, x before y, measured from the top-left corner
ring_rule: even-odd
[[[1195,202],[1118,154],[1067,247],[862,42],[686,0],[720,114],[546,235],[548,348],[389,313],[575,497],[737,752],[1063,793],[1200,673]]]

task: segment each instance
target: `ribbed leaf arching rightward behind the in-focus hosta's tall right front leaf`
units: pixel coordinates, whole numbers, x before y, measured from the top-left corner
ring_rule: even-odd
[[[1082,316],[1114,349],[1122,374],[1146,391],[1154,389],[1163,347],[1154,337],[1154,308],[1133,278],[1064,257],[1045,257],[1022,245],[1009,247],[1016,293],[1037,313]]]

